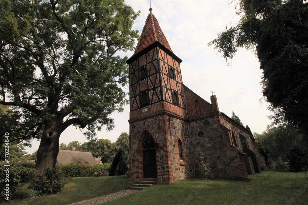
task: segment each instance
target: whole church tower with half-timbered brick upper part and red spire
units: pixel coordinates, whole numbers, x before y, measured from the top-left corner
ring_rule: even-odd
[[[185,179],[185,152],[170,119],[187,119],[180,63],[157,19],[148,15],[129,64],[131,181]],[[171,119],[171,120],[172,120]]]

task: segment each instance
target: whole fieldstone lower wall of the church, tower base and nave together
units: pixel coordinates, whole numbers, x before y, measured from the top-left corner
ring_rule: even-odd
[[[243,156],[240,142],[238,142],[239,147],[230,143],[231,130],[237,133],[236,140],[239,140],[240,134],[246,136],[251,152],[256,151],[251,144],[249,134],[228,123],[228,120],[218,113],[207,119],[191,122],[166,114],[133,122],[130,124],[130,179],[138,181],[143,178],[142,134],[145,131],[151,133],[158,144],[156,149],[158,183],[171,183],[188,177],[201,176],[197,164],[201,156],[205,159],[206,166],[211,168],[210,176],[213,178],[248,177],[247,166],[250,166],[247,165],[248,155]],[[178,150],[179,140],[182,143],[182,163]]]

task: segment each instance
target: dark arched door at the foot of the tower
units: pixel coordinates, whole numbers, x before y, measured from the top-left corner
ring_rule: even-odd
[[[143,144],[143,177],[156,178],[156,148],[154,146],[154,139],[149,132],[144,133]]]

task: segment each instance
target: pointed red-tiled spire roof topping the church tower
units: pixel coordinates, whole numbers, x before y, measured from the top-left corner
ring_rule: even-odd
[[[156,42],[159,42],[166,49],[172,52],[172,49],[163,31],[161,30],[157,22],[157,19],[152,14],[152,8],[150,8],[149,10],[150,10],[150,14],[148,15],[147,20],[145,21],[145,25],[141,32],[141,35],[140,35],[140,38],[137,44],[137,48],[133,56],[136,55],[137,53],[140,53],[140,51],[142,51],[143,49],[147,48],[148,46]]]

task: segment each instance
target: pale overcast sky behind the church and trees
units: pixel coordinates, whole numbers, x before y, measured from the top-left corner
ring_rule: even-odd
[[[149,0],[128,0],[135,11],[141,14],[133,25],[141,33],[149,14]],[[239,49],[228,66],[221,54],[207,43],[224,31],[226,25],[237,23],[234,5],[224,0],[152,0],[152,13],[158,20],[173,52],[183,60],[180,64],[184,85],[192,89],[208,102],[211,90],[215,91],[219,109],[229,117],[234,111],[244,125],[248,124],[252,132],[265,131],[270,123],[267,104],[260,103],[261,93],[260,63],[253,51]],[[137,44],[137,42],[136,42]],[[132,52],[118,53],[131,57]],[[126,91],[129,92],[128,87]],[[107,132],[102,130],[97,137],[111,142],[121,132],[129,132],[129,105],[123,112],[113,113],[115,128]],[[60,136],[60,143],[68,144],[86,138],[79,129],[67,128]],[[33,153],[39,148],[39,141],[33,141],[26,152]]]

